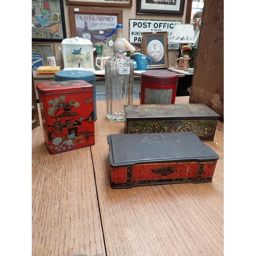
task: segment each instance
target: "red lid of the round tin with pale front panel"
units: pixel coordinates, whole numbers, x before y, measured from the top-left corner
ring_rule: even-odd
[[[165,70],[147,70],[141,73],[141,80],[150,82],[174,82],[178,81],[178,74]]]

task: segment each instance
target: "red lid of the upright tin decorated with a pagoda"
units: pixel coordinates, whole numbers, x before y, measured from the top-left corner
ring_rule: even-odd
[[[41,94],[92,91],[93,85],[83,80],[39,82],[36,89]]]

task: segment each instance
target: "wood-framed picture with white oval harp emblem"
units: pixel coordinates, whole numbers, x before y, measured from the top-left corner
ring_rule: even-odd
[[[142,37],[142,54],[152,59],[150,69],[168,68],[167,32],[144,32]]]

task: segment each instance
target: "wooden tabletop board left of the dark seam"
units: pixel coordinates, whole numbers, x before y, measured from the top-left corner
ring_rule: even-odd
[[[40,125],[32,131],[32,255],[79,253],[105,255],[90,146],[50,155]]]

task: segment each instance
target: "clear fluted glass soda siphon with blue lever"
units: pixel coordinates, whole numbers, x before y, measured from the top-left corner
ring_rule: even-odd
[[[125,56],[125,45],[133,46],[123,38],[122,24],[117,24],[116,29],[105,37],[115,32],[117,37],[113,46],[114,55],[105,63],[106,116],[112,121],[124,121],[123,106],[133,104],[134,78],[134,65]]]

